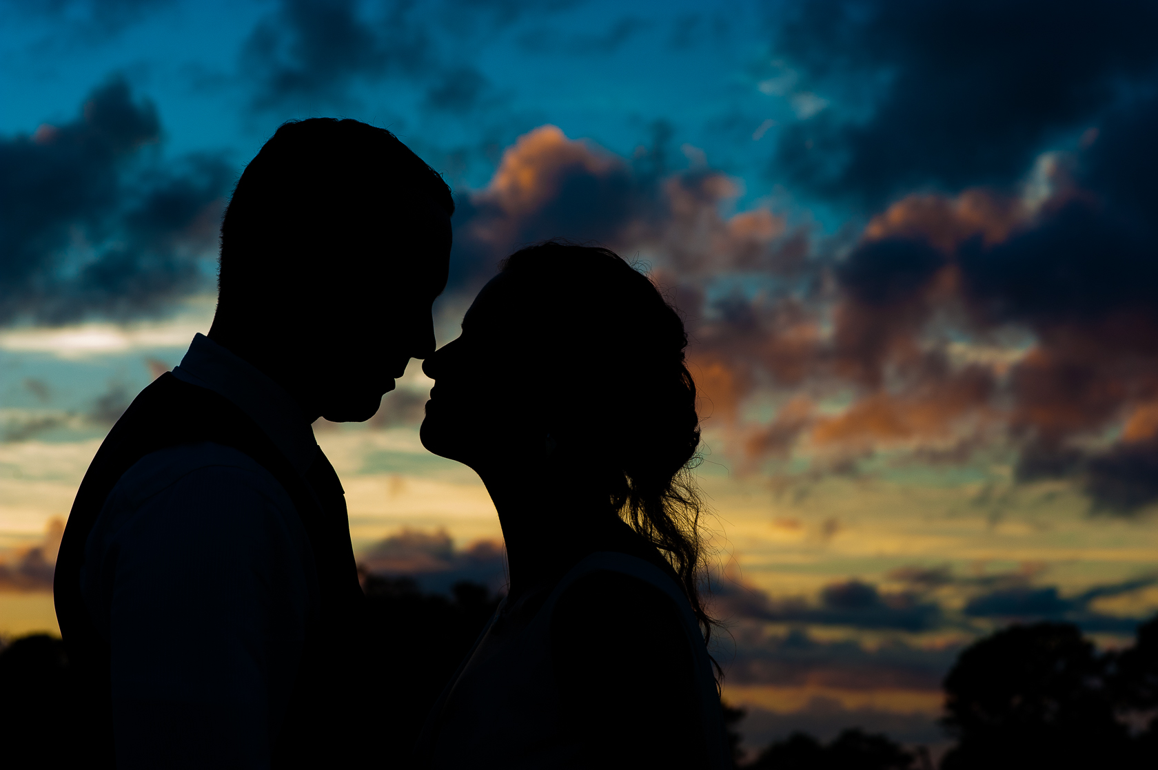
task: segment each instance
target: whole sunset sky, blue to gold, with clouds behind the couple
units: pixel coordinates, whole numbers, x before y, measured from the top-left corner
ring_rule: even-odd
[[[1153,2],[10,0],[0,27],[0,633],[53,628],[53,520],[208,329],[244,163],[310,116],[452,185],[440,344],[552,236],[680,309],[752,745],[936,743],[972,639],[1122,645],[1158,610]],[[369,424],[315,426],[356,550],[499,587],[485,490],[418,441],[428,388],[412,362]]]

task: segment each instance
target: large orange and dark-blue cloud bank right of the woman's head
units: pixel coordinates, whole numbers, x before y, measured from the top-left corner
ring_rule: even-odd
[[[799,311],[806,324],[830,318],[831,333],[798,349],[789,369],[813,402],[842,386],[856,397],[836,413],[793,413],[789,443],[853,456],[959,447],[965,459],[1006,442],[1020,481],[1073,478],[1104,512],[1158,503],[1156,131],[1158,98],[1137,97],[1101,116],[1080,149],[1039,156],[1017,189],[914,193],[873,217],[831,263],[830,303]],[[716,381],[776,372],[764,352],[771,314],[745,302],[730,316],[764,342],[719,361],[727,376]],[[745,339],[735,324],[724,336]],[[959,354],[1002,339],[1020,350]],[[749,428],[748,450],[783,457],[783,441],[761,440],[780,421]],[[1121,438],[1107,442],[1115,426]]]

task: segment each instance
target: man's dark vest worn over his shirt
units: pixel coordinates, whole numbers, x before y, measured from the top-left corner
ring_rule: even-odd
[[[357,694],[365,660],[365,607],[350,544],[346,504],[334,469],[318,450],[308,479],[244,412],[212,390],[163,374],[137,396],[104,439],[73,503],[57,558],[57,619],[76,673],[87,767],[113,767],[110,651],[80,591],[85,547],[118,479],[147,454],[213,441],[236,448],[285,489],[309,537],[318,582],[318,616],[306,630],[294,694],[273,741],[273,767],[361,764],[360,741],[372,716]],[[351,765],[352,767],[352,765]]]

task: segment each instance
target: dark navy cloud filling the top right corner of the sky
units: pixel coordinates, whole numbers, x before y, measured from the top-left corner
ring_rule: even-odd
[[[777,8],[779,76],[845,109],[787,126],[772,173],[828,198],[1009,184],[1158,64],[1158,10],[1141,0],[1113,13],[1043,0]]]

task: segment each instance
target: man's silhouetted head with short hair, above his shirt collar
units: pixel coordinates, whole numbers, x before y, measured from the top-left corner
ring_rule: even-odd
[[[368,419],[406,362],[434,350],[453,213],[442,178],[389,131],[286,123],[226,210],[210,336],[308,413]]]

